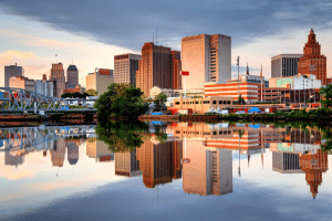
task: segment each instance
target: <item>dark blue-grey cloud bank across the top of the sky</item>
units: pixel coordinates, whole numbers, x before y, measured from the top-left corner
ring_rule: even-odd
[[[331,28],[332,18],[326,0],[13,0],[0,6],[6,13],[136,51],[152,41],[156,27],[158,43],[179,49],[186,35],[221,33],[239,45],[281,30]]]

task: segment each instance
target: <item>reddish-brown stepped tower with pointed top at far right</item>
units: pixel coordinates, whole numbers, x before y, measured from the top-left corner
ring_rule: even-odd
[[[303,48],[303,56],[299,59],[299,73],[314,74],[317,80],[322,81],[322,85],[326,85],[326,56],[321,54],[321,45],[315,41],[312,29]]]

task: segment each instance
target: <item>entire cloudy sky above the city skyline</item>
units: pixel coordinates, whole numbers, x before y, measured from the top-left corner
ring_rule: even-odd
[[[271,56],[303,53],[310,29],[332,75],[332,2],[329,0],[0,0],[0,80],[18,63],[24,75],[50,75],[52,63],[75,64],[80,84],[95,67],[113,69],[114,55],[141,53],[145,42],[180,50],[181,38],[231,36],[232,76],[270,77]],[[58,54],[58,56],[55,56]],[[0,86],[3,86],[0,81]]]

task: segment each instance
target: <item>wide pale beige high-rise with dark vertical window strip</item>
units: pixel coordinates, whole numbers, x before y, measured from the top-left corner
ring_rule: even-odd
[[[183,76],[186,88],[203,88],[208,82],[225,84],[231,78],[230,36],[199,34],[183,38],[181,56],[181,70],[189,72],[189,76]]]

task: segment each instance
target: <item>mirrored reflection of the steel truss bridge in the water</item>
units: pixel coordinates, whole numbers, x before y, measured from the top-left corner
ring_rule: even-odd
[[[72,136],[95,136],[95,125],[0,128],[0,151],[49,149],[54,140]]]

